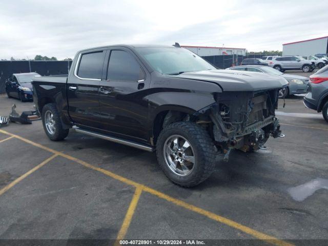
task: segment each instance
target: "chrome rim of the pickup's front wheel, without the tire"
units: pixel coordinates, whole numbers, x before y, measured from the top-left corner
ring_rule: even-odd
[[[188,176],[195,168],[195,155],[190,142],[180,136],[170,136],[164,144],[163,154],[170,170],[179,176]]]

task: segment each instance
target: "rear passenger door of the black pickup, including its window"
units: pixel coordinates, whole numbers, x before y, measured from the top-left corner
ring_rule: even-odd
[[[77,125],[100,128],[99,83],[105,60],[104,50],[81,53],[68,78],[68,112]]]

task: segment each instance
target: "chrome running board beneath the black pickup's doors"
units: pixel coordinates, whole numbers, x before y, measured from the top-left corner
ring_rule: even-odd
[[[105,140],[109,140],[109,141],[112,141],[112,142],[117,142],[118,144],[134,147],[134,148],[137,148],[137,149],[140,149],[140,150],[146,150],[146,151],[149,151],[149,152],[154,151],[153,147],[143,145],[143,144],[139,144],[138,142],[129,141],[129,140],[126,140],[126,139],[122,139],[122,138],[118,138],[118,137],[112,137],[112,136],[101,134],[101,133],[98,133],[98,132],[93,132],[93,131],[81,129],[77,126],[73,126],[73,129],[76,132],[84,133],[84,134],[87,134],[87,135],[90,135],[90,136],[93,136],[93,137],[103,138]]]

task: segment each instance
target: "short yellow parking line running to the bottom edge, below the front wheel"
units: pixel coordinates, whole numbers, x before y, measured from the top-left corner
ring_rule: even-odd
[[[130,206],[129,206],[129,209],[127,211],[127,214],[125,215],[125,218],[124,218],[124,221],[122,223],[122,226],[121,226],[121,229],[119,230],[118,234],[117,234],[117,238],[116,238],[116,241],[114,243],[114,246],[118,246],[120,245],[119,244],[119,240],[121,239],[124,239],[125,238],[125,235],[127,234],[128,232],[128,229],[130,227],[130,223],[131,223],[131,220],[132,220],[132,217],[133,217],[133,214],[134,214],[134,211],[137,207],[137,204],[138,204],[138,201],[139,201],[139,198],[140,198],[140,195],[141,195],[141,192],[142,192],[142,189],[141,187],[137,187],[135,189],[135,192],[134,192],[134,195],[132,197],[132,200],[131,200],[131,203],[130,203]]]

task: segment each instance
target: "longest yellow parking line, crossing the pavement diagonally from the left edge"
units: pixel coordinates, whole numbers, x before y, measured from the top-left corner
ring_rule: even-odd
[[[160,198],[162,198],[162,199],[165,199],[165,200],[167,200],[167,201],[170,201],[170,202],[176,204],[176,205],[179,206],[179,207],[182,207],[182,208],[188,209],[188,210],[190,210],[190,211],[193,211],[193,212],[196,212],[196,213],[198,213],[198,214],[204,215],[204,216],[206,216],[206,217],[208,217],[208,218],[210,218],[210,219],[213,219],[213,220],[215,220],[215,221],[218,221],[218,222],[221,222],[221,223],[223,223],[223,224],[226,224],[227,226],[230,226],[230,227],[235,228],[235,229],[237,229],[237,230],[239,230],[239,231],[242,231],[242,232],[244,232],[244,233],[247,233],[247,234],[249,234],[249,235],[252,235],[252,236],[255,237],[255,238],[258,238],[258,239],[261,239],[261,240],[265,240],[265,241],[267,241],[267,242],[269,242],[269,243],[271,243],[271,244],[278,245],[278,246],[292,246],[292,245],[294,245],[294,244],[291,244],[291,243],[285,242],[285,241],[283,241],[283,240],[279,240],[278,238],[275,238],[275,237],[269,236],[269,235],[267,235],[267,234],[264,234],[264,233],[258,232],[258,231],[256,231],[256,230],[253,230],[253,229],[249,228],[249,227],[243,226],[242,224],[239,224],[238,222],[235,222],[235,221],[233,221],[233,220],[231,220],[231,219],[228,219],[228,218],[225,218],[225,217],[223,217],[223,216],[220,216],[220,215],[214,214],[214,213],[212,213],[212,212],[209,212],[209,211],[207,211],[207,210],[204,210],[204,209],[198,208],[198,207],[196,207],[196,206],[194,206],[194,205],[192,205],[192,204],[190,204],[190,203],[187,203],[187,202],[185,202],[185,201],[182,201],[182,200],[176,199],[176,198],[174,198],[174,197],[168,196],[168,195],[166,195],[166,194],[164,194],[164,193],[162,193],[162,192],[156,191],[156,190],[154,190],[154,189],[152,189],[152,188],[150,188],[150,187],[147,187],[147,186],[145,186],[145,185],[141,185],[140,183],[135,182],[135,181],[133,181],[133,180],[131,180],[131,179],[128,179],[128,178],[122,177],[122,176],[120,176],[120,175],[118,175],[118,174],[115,174],[115,173],[112,173],[112,172],[110,172],[110,171],[108,171],[108,170],[105,170],[105,169],[102,169],[102,168],[95,167],[95,166],[89,164],[89,163],[86,162],[86,161],[83,161],[83,160],[77,159],[77,158],[75,158],[75,157],[73,157],[73,156],[70,156],[70,155],[67,155],[67,154],[64,154],[64,153],[58,152],[58,151],[56,151],[56,150],[50,149],[50,148],[45,147],[45,146],[40,145],[40,144],[37,144],[36,142],[33,142],[33,141],[31,141],[31,140],[28,140],[28,139],[26,139],[26,138],[24,138],[24,137],[20,137],[20,136],[18,136],[18,135],[15,135],[15,134],[12,134],[12,133],[6,132],[6,131],[4,131],[4,130],[0,130],[0,132],[2,132],[2,133],[4,133],[4,134],[11,135],[11,136],[14,136],[14,137],[16,137],[16,138],[18,138],[18,139],[20,139],[20,140],[23,140],[23,141],[25,141],[25,142],[28,142],[29,144],[31,144],[31,145],[33,145],[33,146],[36,146],[36,147],[42,148],[42,149],[44,149],[44,150],[48,150],[48,151],[50,151],[50,152],[52,152],[52,153],[54,153],[54,154],[56,154],[56,155],[59,155],[59,156],[65,157],[65,158],[67,158],[67,159],[69,159],[69,160],[75,161],[75,162],[77,162],[77,163],[79,163],[79,164],[81,164],[81,165],[83,165],[83,166],[85,166],[85,167],[87,167],[87,168],[90,168],[90,169],[92,169],[92,170],[95,170],[95,171],[101,172],[101,173],[103,173],[103,174],[105,174],[105,175],[107,175],[107,176],[109,176],[109,177],[112,177],[112,178],[117,179],[117,180],[119,180],[119,181],[121,181],[121,182],[124,182],[124,183],[126,183],[127,185],[131,185],[131,186],[134,186],[134,187],[136,187],[136,188],[140,188],[142,191],[148,192],[148,193],[153,194],[153,195],[155,195],[155,196],[157,196],[157,197],[160,197]]]

